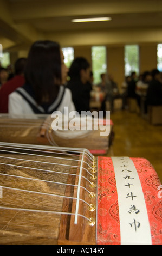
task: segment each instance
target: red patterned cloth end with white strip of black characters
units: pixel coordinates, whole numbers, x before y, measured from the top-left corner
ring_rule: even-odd
[[[98,157],[98,245],[160,245],[160,184],[146,159]]]

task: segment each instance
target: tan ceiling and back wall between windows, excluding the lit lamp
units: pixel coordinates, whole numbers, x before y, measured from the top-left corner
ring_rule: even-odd
[[[157,44],[162,41],[161,1],[42,1],[1,0],[0,39],[11,63],[26,57],[39,39],[73,47],[74,57],[91,63],[91,47],[107,47],[107,70],[119,87],[124,81],[124,46],[140,47],[140,72],[157,66]],[[72,23],[82,17],[111,17],[111,21]]]

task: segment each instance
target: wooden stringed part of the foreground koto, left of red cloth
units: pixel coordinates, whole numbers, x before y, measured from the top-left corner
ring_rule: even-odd
[[[0,244],[95,244],[92,155],[80,149],[20,147],[0,147]]]

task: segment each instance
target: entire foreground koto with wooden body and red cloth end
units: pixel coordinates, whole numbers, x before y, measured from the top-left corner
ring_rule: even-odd
[[[0,150],[1,245],[162,244],[162,186],[147,160],[10,143]]]

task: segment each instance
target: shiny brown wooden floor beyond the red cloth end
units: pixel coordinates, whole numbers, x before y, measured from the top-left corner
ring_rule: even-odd
[[[162,183],[162,125],[153,126],[136,113],[116,111],[114,142],[108,156],[143,157],[150,161]]]

